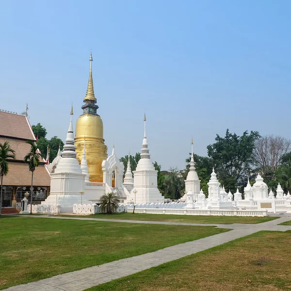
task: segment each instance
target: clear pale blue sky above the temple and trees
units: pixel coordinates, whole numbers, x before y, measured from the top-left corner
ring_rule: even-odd
[[[1,1],[0,108],[65,139],[89,76],[105,144],[185,166],[191,136],[206,155],[216,133],[291,138],[291,1]]]

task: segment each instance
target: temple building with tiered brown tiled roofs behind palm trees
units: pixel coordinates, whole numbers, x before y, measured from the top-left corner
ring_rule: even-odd
[[[25,193],[29,193],[32,183],[32,173],[24,157],[30,151],[27,140],[36,141],[32,127],[26,113],[17,114],[0,111],[0,143],[9,142],[10,147],[15,150],[16,159],[9,161],[9,172],[3,177],[3,200],[2,213],[13,213],[20,209],[20,201]],[[45,161],[41,161],[33,173],[32,200],[34,204],[45,200],[49,194],[50,175]]]

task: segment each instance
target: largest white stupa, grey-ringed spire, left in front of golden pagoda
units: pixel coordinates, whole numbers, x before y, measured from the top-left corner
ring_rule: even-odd
[[[72,212],[73,205],[81,204],[81,200],[83,204],[89,204],[84,195],[81,199],[80,194],[80,190],[85,189],[86,174],[82,173],[81,166],[76,158],[72,117],[73,107],[62,159],[59,160],[54,173],[50,174],[50,194],[42,202],[42,204],[47,205],[61,205],[62,212]]]

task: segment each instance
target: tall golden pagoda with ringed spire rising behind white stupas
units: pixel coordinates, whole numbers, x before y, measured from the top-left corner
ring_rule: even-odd
[[[90,73],[87,93],[84,97],[83,114],[76,123],[75,146],[77,159],[81,163],[84,141],[91,182],[103,182],[102,162],[107,159],[107,146],[103,139],[103,122],[97,114],[98,105],[94,95],[92,78],[92,53],[90,54]]]

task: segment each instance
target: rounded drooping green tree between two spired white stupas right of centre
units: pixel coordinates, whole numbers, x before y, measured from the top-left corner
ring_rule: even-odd
[[[180,171],[175,168],[170,168],[168,177],[165,179],[165,198],[179,199],[185,190],[185,182]]]

